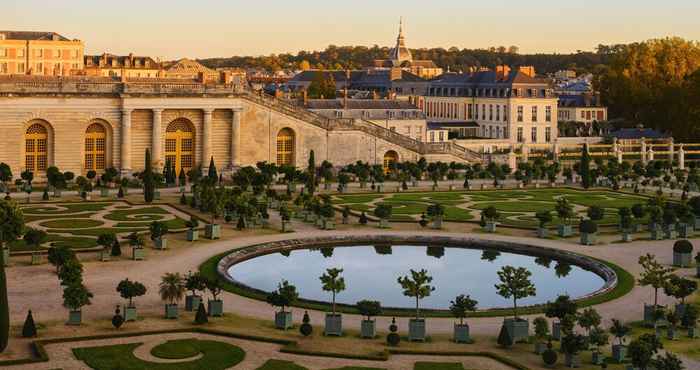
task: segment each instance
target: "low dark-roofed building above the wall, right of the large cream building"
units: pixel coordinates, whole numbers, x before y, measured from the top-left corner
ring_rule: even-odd
[[[129,55],[86,55],[85,68],[81,74],[86,76],[155,78],[160,77],[162,68],[151,57]]]

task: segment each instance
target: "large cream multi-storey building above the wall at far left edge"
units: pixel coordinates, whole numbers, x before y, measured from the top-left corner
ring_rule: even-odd
[[[82,41],[55,32],[0,31],[0,75],[69,76],[83,53]]]

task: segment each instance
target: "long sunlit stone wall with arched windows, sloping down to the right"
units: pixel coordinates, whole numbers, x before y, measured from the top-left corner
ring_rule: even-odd
[[[214,158],[224,171],[267,161],[305,166],[358,160],[478,161],[454,143],[416,141],[362,119],[330,119],[241,85],[175,79],[0,76],[0,162],[15,176],[46,168],[124,174],[153,164],[176,170]]]

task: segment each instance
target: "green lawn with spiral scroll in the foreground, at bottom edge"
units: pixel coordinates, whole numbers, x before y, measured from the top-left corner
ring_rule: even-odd
[[[197,350],[198,353],[202,353],[202,357],[194,361],[169,364],[147,362],[134,356],[134,349],[142,343],[73,348],[73,355],[91,368],[98,370],[223,370],[237,365],[245,357],[245,352],[242,349],[228,343],[198,339],[184,339],[177,342],[166,345],[164,349],[159,350],[159,355],[173,358],[172,356],[177,356],[177,354],[172,351],[185,348],[184,346],[187,345],[191,347],[188,349],[190,353]]]

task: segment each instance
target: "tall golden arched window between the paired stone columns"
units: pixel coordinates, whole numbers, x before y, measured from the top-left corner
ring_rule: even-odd
[[[165,130],[165,161],[175,165],[175,173],[194,166],[194,127],[180,118],[170,122]]]

